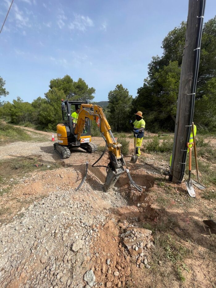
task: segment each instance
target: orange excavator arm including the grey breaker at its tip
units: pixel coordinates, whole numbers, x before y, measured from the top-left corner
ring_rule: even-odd
[[[111,127],[103,113],[103,109],[98,105],[92,104],[81,104],[77,125],[74,129],[74,134],[77,135],[77,141],[81,140],[80,136],[87,119],[96,122],[109,149],[110,162],[107,166],[107,176],[104,183],[104,190],[109,191],[115,185],[118,177],[125,171],[123,167],[125,162],[120,149],[122,145],[115,141]]]

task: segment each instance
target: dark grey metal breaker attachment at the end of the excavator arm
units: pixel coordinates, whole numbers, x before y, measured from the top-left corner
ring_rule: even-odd
[[[106,175],[106,181],[104,183],[104,190],[106,192],[110,191],[118,180],[119,176],[125,171],[123,165],[125,165],[123,155],[121,158],[117,159],[115,155],[109,151],[110,163],[108,164],[108,170]]]

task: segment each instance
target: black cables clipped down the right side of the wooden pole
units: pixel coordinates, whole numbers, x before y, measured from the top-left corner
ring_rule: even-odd
[[[194,105],[195,105],[195,92],[196,92],[196,86],[197,86],[197,78],[198,78],[198,70],[199,70],[199,60],[200,60],[200,50],[201,50],[201,38],[202,38],[202,28],[203,28],[203,16],[206,6],[206,0],[203,0],[202,6],[200,8],[200,15],[197,15],[197,18],[199,18],[199,28],[198,28],[198,34],[197,34],[197,41],[196,41],[196,47],[195,47],[195,60],[194,60],[194,70],[193,70],[193,82],[191,87],[191,94],[193,96],[193,99],[191,101],[190,105],[190,120],[188,123],[188,138],[187,142],[189,142],[190,139],[190,133],[191,133],[191,126],[193,122],[193,114],[194,114]],[[187,150],[183,154],[183,161],[182,163],[186,163],[187,159]],[[181,169],[181,178],[180,183],[182,182],[184,178],[185,173],[185,164],[182,164]]]

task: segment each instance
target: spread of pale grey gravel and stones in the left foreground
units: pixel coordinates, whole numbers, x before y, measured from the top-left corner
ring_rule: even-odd
[[[82,263],[100,236],[93,227],[105,224],[109,207],[125,204],[119,193],[84,183],[77,192],[58,189],[22,209],[0,229],[0,287],[83,287]]]

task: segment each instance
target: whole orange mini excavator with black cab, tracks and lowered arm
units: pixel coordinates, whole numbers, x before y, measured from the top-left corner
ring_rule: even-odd
[[[80,106],[75,128],[73,128],[71,117],[71,105],[75,105],[76,109]],[[68,100],[62,101],[61,108],[64,123],[57,125],[58,143],[54,144],[54,149],[63,159],[70,157],[70,150],[74,147],[80,147],[90,153],[95,152],[97,146],[91,143],[90,135],[90,121],[95,121],[105,140],[106,147],[92,166],[102,158],[108,147],[110,162],[105,166],[107,175],[104,190],[111,190],[119,176],[125,171],[125,162],[120,150],[122,145],[116,142],[103,109],[98,105],[88,104],[87,102],[71,102]]]

